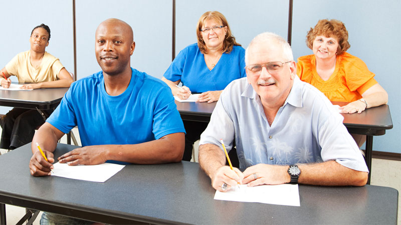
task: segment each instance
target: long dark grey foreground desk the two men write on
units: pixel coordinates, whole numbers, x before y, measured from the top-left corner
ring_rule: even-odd
[[[56,157],[77,146],[58,144]],[[30,144],[0,155],[0,223],[5,203],[105,223],[395,224],[391,187],[299,185],[300,205],[214,200],[196,162],[126,165],[104,183],[29,173]]]

